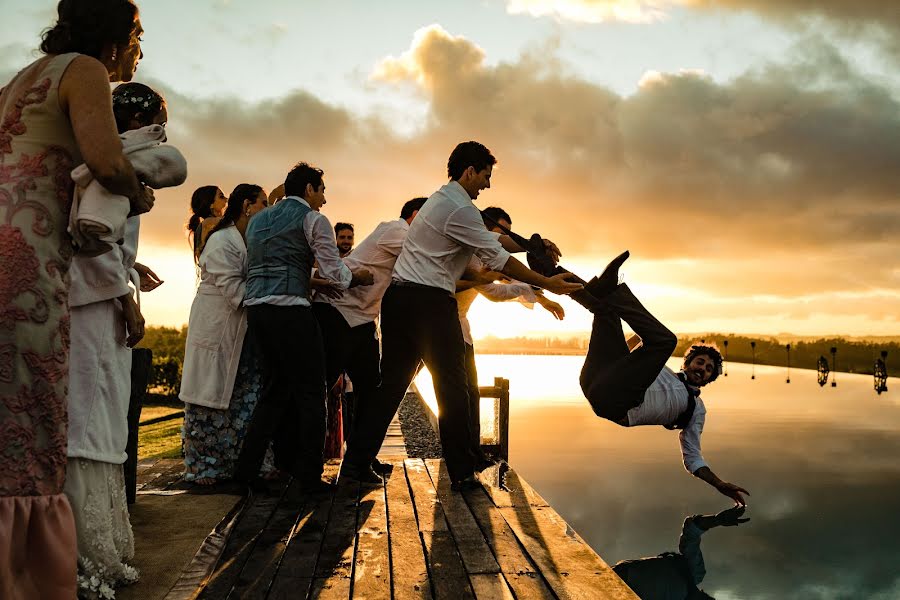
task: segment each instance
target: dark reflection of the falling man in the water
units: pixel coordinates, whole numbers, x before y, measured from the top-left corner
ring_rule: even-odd
[[[715,527],[734,527],[746,523],[750,519],[741,518],[744,510],[743,507],[732,507],[714,515],[689,516],[681,527],[678,552],[622,560],[613,566],[613,570],[641,600],[712,598],[699,587],[706,577],[700,538]]]

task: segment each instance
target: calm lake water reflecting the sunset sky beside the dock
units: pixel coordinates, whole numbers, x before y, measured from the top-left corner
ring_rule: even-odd
[[[510,464],[606,560],[677,551],[685,517],[731,506],[681,464],[677,432],[594,416],[582,357],[479,355],[510,380]],[[670,366],[677,367],[678,361]],[[704,389],[703,455],[750,490],[737,527],[702,538],[701,587],[722,599],[900,598],[900,379],[728,365]],[[421,387],[421,386],[420,386]]]

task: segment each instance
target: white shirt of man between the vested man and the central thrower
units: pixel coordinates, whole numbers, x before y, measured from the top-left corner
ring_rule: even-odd
[[[374,279],[372,285],[347,290],[340,298],[316,294],[314,301],[334,306],[350,327],[373,322],[381,312],[381,298],[391,284],[394,263],[397,262],[408,232],[409,224],[406,219],[379,224],[353,252],[344,257],[344,264],[351,269],[368,269]]]

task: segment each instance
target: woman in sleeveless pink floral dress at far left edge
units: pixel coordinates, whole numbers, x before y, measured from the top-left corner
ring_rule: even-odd
[[[122,153],[110,81],[128,81],[143,32],[130,0],[63,0],[45,56],[0,91],[0,597],[72,598],[75,524],[65,494],[66,232],[85,163],[132,211],[153,195]]]

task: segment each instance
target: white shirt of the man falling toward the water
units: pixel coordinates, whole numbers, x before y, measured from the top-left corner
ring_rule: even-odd
[[[707,466],[700,453],[700,435],[706,423],[706,406],[698,396],[694,414],[687,427],[679,432],[684,468],[694,473]],[[688,393],[684,384],[669,367],[663,367],[647,391],[644,401],[628,411],[628,426],[671,425],[687,409]]]

